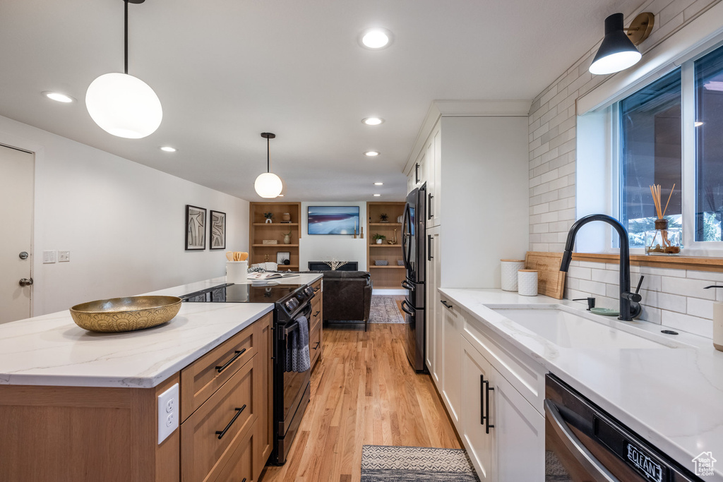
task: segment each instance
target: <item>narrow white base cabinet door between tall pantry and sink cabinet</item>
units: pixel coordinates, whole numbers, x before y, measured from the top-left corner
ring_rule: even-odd
[[[442,297],[442,397],[452,421],[459,424],[461,394],[460,312],[452,302]]]

